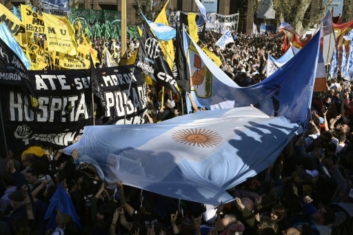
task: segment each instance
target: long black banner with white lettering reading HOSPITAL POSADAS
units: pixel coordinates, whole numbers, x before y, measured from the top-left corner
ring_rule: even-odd
[[[107,112],[96,125],[143,123],[147,107],[145,78],[132,76],[133,65],[97,69]],[[43,145],[64,147],[92,125],[92,94],[89,70],[28,71],[30,84],[37,94],[37,109],[30,108],[30,96],[17,85],[1,86],[1,107],[8,141],[36,139]],[[130,94],[128,89],[132,81]],[[99,99],[94,103],[100,102]]]

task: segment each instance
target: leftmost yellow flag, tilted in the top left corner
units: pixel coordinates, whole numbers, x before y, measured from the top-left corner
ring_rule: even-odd
[[[8,29],[14,36],[14,39],[16,39],[17,43],[21,46],[21,48],[26,47],[27,41],[26,41],[26,30],[25,30],[25,25],[22,23],[22,21],[19,20],[8,8],[3,6],[0,3],[0,23],[6,23],[8,25]]]

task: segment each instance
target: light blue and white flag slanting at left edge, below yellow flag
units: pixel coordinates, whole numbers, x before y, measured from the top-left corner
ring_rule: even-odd
[[[26,68],[30,70],[30,67],[32,66],[30,60],[26,57],[26,54],[19,47],[19,43],[17,43],[16,39],[14,39],[6,23],[0,24],[0,38],[3,39],[6,45],[8,45],[9,48],[14,51],[14,53],[17,54],[17,56],[19,57],[19,59],[21,59]]]

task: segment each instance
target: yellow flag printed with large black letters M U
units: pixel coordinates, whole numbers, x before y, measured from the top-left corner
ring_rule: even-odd
[[[44,32],[47,35],[48,49],[64,54],[77,54],[74,29],[68,17],[58,17],[43,12],[43,19],[46,25]]]

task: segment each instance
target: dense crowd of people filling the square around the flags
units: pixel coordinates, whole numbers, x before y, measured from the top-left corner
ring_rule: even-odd
[[[265,57],[281,56],[283,38],[234,36],[234,45],[223,51],[210,34],[205,44],[224,58],[221,68],[239,85],[265,79]],[[314,93],[307,131],[294,137],[268,169],[228,190],[235,200],[220,205],[179,201],[120,181],[116,190],[108,189],[92,165],[63,150],[38,144],[9,150],[6,160],[0,158],[1,234],[352,234],[353,92],[340,76],[327,87]],[[181,115],[184,104],[177,94],[159,90],[147,90],[149,123]],[[192,107],[205,110],[194,102]],[[80,225],[72,214],[59,213],[56,227],[48,229],[44,215],[61,186]]]

